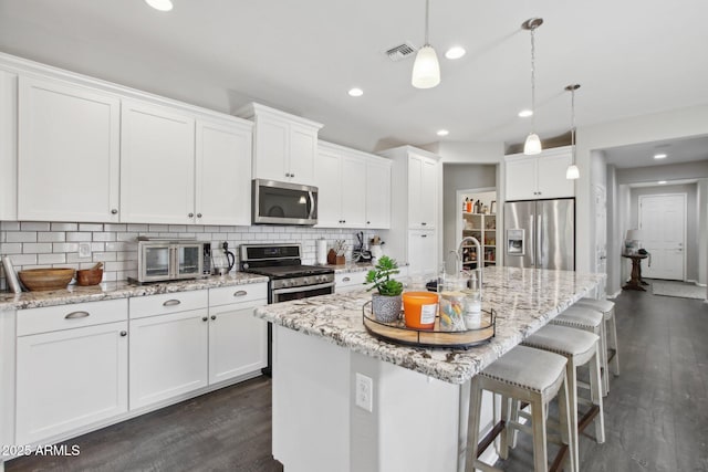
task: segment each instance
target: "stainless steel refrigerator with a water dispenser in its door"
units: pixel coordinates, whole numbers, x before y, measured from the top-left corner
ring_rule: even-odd
[[[504,203],[504,265],[575,270],[575,199]]]

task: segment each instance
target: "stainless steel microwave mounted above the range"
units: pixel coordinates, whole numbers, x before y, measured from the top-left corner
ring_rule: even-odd
[[[317,223],[317,188],[299,183],[254,179],[253,224]]]

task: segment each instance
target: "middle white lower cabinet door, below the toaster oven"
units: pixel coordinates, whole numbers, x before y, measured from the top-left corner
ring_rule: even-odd
[[[207,385],[207,310],[131,319],[131,409]]]

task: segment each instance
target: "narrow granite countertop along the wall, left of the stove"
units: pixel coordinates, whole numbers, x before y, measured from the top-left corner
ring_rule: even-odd
[[[49,292],[0,293],[0,311],[38,308],[41,306],[67,305],[80,302],[97,302],[101,300],[187,292],[191,290],[216,289],[259,282],[268,282],[268,277],[236,272],[223,276],[212,275],[205,279],[148,285],[133,285],[127,282],[104,282],[92,286],[69,285],[65,290]]]

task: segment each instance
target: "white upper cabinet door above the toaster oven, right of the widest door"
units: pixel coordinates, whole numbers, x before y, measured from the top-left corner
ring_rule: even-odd
[[[195,221],[195,120],[168,108],[123,102],[121,221]]]

